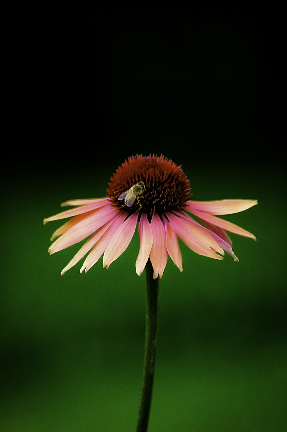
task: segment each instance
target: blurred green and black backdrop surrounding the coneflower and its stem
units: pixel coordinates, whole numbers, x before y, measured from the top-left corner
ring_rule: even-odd
[[[279,18],[262,6],[55,10],[14,36],[21,72],[2,169],[1,431],[135,430],[145,333],[138,235],[108,271],[100,260],[86,275],[79,263],[61,277],[80,245],[51,257],[60,222],[42,219],[64,200],[104,196],[128,156],[153,152],[182,165],[194,199],[259,205],[226,216],[258,239],[230,235],[238,264],[182,242],[183,273],[167,262],[149,431],[285,430]]]

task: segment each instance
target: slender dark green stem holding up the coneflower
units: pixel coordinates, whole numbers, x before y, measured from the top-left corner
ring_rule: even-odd
[[[137,432],[148,430],[151,408],[152,387],[155,376],[155,353],[158,332],[158,278],[154,280],[151,261],[145,266],[146,275],[146,321],[145,321],[145,362],[142,379],[142,399],[139,409]]]

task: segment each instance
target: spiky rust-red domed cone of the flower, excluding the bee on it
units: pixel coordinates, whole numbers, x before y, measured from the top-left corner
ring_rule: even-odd
[[[145,184],[145,190],[128,207],[119,197],[139,182]],[[120,209],[129,213],[141,209],[151,216],[155,212],[183,210],[190,191],[188,178],[170,159],[162,155],[137,155],[128,158],[111,177],[107,196]]]

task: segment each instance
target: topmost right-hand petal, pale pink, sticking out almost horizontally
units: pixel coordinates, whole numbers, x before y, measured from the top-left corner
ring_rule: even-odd
[[[229,215],[242,212],[258,204],[257,200],[218,200],[218,201],[187,201],[186,210],[211,213],[212,215]]]

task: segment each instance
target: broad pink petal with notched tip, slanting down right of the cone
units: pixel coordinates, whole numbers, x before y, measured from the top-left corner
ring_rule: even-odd
[[[196,226],[182,215],[175,216],[172,213],[167,213],[167,217],[178,237],[192,251],[205,257],[223,260],[223,257],[216,253],[224,255],[223,249],[217,244],[211,234],[205,231],[204,227]]]

